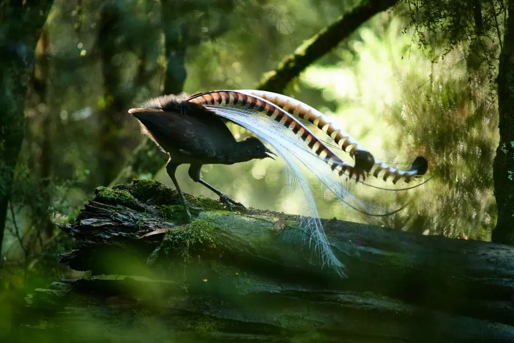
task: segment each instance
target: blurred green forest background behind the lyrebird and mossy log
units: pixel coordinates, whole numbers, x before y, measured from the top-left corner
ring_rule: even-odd
[[[72,242],[54,223],[73,222],[98,186],[137,177],[172,187],[166,156],[127,113],[163,94],[267,89],[316,107],[399,168],[416,155],[429,159],[432,179],[418,188],[359,189],[371,208],[408,202],[402,211],[366,216],[319,189],[323,218],[511,243],[509,6],[0,1],[0,337],[27,290],[84,276],[58,265],[56,256]],[[341,26],[309,49],[331,25]],[[284,59],[297,68],[287,69]],[[249,134],[230,128],[237,139]],[[189,179],[187,168],[177,171],[182,190],[216,198]],[[246,206],[297,213],[281,161],[202,172]]]

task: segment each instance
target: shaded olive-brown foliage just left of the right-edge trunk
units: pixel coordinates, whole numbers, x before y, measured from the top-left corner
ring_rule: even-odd
[[[452,69],[459,64],[464,69],[463,61],[456,62]],[[487,70],[469,82],[464,73],[443,74],[444,65],[437,68],[433,86],[420,87],[411,95],[423,94],[427,101],[409,101],[402,114],[405,119],[399,121],[412,135],[418,130],[415,141],[426,142],[435,175],[429,194],[416,201],[417,209],[410,214],[424,218],[429,232],[489,240],[497,215],[492,192],[498,142],[496,104],[489,97]],[[457,212],[448,210],[456,208]],[[437,214],[432,215],[434,212]],[[486,236],[482,228],[487,230]]]

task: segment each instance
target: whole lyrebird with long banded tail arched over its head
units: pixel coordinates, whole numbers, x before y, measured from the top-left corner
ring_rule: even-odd
[[[366,175],[383,173],[383,180],[393,176],[396,184],[403,179],[424,175],[428,168],[424,157],[417,157],[408,170],[397,170],[376,159],[346,132],[328,121],[319,111],[298,100],[274,93],[245,91],[211,91],[192,96],[181,94],[152,99],[141,108],[132,109],[141,122],[142,131],[170,156],[167,172],[179,192],[186,211],[189,205],[175,177],[180,164],[190,164],[189,176],[219,195],[227,205],[242,204],[215,189],[200,178],[204,164],[234,164],[255,158],[281,156],[289,167],[289,185],[302,191],[304,208],[300,225],[311,231],[316,248],[321,250],[323,263],[333,264],[338,272],[344,267],[332,252],[325,237],[310,184],[302,167],[312,172],[320,182],[342,202],[369,213],[366,204],[348,191],[347,182],[363,183]],[[237,142],[222,118],[253,132],[277,153],[271,152],[261,140],[250,137]],[[328,145],[314,135],[298,118],[307,119],[353,157],[355,163],[345,163]],[[291,177],[292,176],[292,177]],[[344,177],[343,177],[344,176]],[[371,214],[371,213],[370,213]]]

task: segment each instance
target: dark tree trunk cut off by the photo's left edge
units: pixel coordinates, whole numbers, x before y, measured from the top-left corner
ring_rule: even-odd
[[[34,52],[53,1],[0,1],[0,256]]]

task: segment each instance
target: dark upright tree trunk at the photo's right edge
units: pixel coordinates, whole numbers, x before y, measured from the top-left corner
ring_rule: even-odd
[[[514,244],[514,1],[508,1],[508,17],[498,68],[500,142],[493,165],[498,221],[491,240]]]

